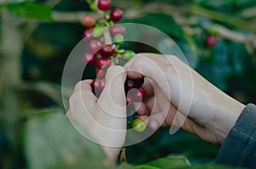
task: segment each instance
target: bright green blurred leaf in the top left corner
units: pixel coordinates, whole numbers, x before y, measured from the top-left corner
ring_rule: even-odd
[[[52,8],[39,3],[9,3],[9,12],[26,19],[51,20]]]

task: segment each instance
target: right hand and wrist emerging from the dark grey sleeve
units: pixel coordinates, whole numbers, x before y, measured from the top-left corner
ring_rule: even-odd
[[[184,130],[212,144],[222,144],[245,107],[176,56],[137,54],[125,69],[130,78],[148,79],[143,88],[149,97],[135,106],[137,117],[153,129],[162,122],[165,126],[182,125]]]

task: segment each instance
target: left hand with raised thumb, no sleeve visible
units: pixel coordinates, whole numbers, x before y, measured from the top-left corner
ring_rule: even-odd
[[[69,100],[67,117],[86,138],[102,145],[102,149],[113,164],[125,143],[126,72],[123,67],[111,66],[105,78],[106,85],[99,99],[92,93],[91,80],[76,85]]]

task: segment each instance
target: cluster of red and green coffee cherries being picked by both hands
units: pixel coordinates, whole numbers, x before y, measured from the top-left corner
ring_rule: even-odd
[[[86,27],[83,33],[84,40],[89,42],[89,52],[84,54],[83,61],[89,65],[96,64],[97,78],[90,85],[96,97],[99,97],[105,87],[105,74],[108,67],[110,65],[118,65],[119,59],[128,61],[135,53],[131,50],[120,49],[120,45],[124,42],[125,27],[115,25],[114,22],[121,20],[123,10],[120,8],[110,9],[110,0],[89,0],[87,2],[92,10],[96,10],[101,15],[96,20],[92,14],[85,14],[81,20],[82,25]],[[133,102],[141,102],[145,97],[145,91],[141,87],[143,82],[143,78],[137,80],[126,79],[127,110],[131,111]],[[141,119],[135,119],[130,123],[131,127],[137,132],[143,132],[146,128],[145,122]]]

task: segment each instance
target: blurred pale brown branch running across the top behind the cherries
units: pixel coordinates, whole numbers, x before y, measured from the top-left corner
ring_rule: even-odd
[[[155,4],[155,3],[154,3]],[[160,11],[161,10],[161,11]],[[142,10],[137,10],[137,9],[129,9],[129,11],[125,11],[125,17],[129,19],[137,19],[138,17],[142,16],[143,14],[148,14],[149,12],[161,12],[165,14],[171,14],[174,16],[174,19],[177,21],[178,24],[187,26],[191,24],[191,22],[197,22],[198,20],[195,19],[195,17],[183,17],[181,14],[178,14],[177,11],[179,11],[178,8],[173,9],[172,6],[166,5],[165,7],[162,6],[162,4],[158,5],[153,5],[153,4],[148,4],[143,8]],[[183,14],[183,8],[180,10],[181,13]],[[54,12],[53,13],[53,19],[56,22],[80,22],[81,18],[84,16],[84,14],[92,14],[95,15],[94,13],[84,13],[84,12]],[[209,25],[203,25],[205,28],[207,28]],[[188,27],[188,26],[187,26]],[[187,33],[188,30],[184,30]],[[256,36],[253,33],[244,35],[239,31],[232,31],[223,25],[216,25],[216,31],[218,32],[218,35],[220,37],[224,37],[225,39],[229,39],[234,42],[238,43],[251,43],[253,45],[253,48],[256,48]],[[189,33],[190,34],[190,33]]]

